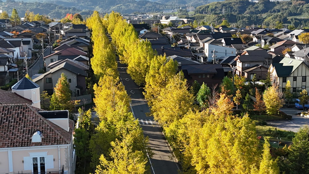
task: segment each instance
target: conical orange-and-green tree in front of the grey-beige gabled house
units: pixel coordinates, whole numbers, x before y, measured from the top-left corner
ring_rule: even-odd
[[[67,80],[65,73],[61,73],[61,77],[58,79],[54,93],[50,98],[50,110],[66,110],[70,107],[71,101],[70,83]]]

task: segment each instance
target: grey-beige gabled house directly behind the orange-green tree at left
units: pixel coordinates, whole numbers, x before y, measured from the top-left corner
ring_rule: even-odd
[[[49,67],[49,71],[36,77],[32,81],[40,85],[40,93],[47,91],[49,94],[54,92],[54,87],[56,87],[57,80],[61,77],[61,73],[65,73],[70,83],[70,90],[72,91],[72,96],[83,95],[86,91],[86,81],[87,72],[80,68],[80,64],[75,65],[70,62],[57,63],[54,67]],[[46,67],[47,68],[47,67]],[[89,68],[89,67],[88,67]]]

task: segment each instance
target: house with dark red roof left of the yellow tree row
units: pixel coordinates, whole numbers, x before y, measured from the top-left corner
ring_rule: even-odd
[[[44,64],[46,67],[46,71],[49,71],[50,68],[48,68],[48,66],[50,63],[56,62],[61,59],[75,59],[80,55],[87,56],[87,53],[73,47],[69,47],[61,51],[55,52],[53,54],[50,54],[44,57]]]

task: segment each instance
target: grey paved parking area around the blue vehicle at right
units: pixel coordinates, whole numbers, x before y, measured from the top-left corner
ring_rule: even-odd
[[[292,120],[279,120],[279,121],[269,121],[268,125],[277,125],[277,128],[297,132],[299,128],[305,124],[309,124],[309,118],[298,116],[296,112],[301,112],[296,108],[281,108],[280,111],[285,112],[288,115],[292,115]]]

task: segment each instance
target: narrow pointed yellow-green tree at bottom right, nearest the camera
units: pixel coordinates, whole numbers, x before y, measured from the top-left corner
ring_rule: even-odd
[[[264,139],[265,143],[263,145],[264,150],[259,174],[279,174],[277,160],[273,160],[273,157],[270,154],[269,137],[264,137]]]

